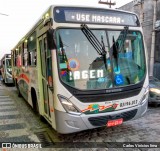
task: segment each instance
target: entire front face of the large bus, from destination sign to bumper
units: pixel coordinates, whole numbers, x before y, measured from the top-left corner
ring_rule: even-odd
[[[53,18],[57,130],[72,133],[141,117],[147,110],[148,73],[137,16],[55,7]]]

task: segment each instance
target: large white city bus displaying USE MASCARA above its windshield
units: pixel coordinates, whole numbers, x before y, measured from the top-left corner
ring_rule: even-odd
[[[67,134],[142,117],[146,57],[136,14],[53,5],[12,49],[12,76],[18,95]]]

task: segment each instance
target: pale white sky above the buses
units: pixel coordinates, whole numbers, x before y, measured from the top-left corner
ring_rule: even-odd
[[[50,5],[58,3],[97,6],[98,1],[99,0],[0,0],[0,60],[4,54],[11,52],[19,40],[31,29]],[[107,0],[101,1],[106,2]],[[131,1],[132,0],[112,0],[112,2],[116,2],[115,8]]]

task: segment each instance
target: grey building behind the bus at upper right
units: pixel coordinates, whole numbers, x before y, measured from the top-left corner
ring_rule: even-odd
[[[142,23],[144,40],[148,51],[148,63],[150,64],[154,1],[156,5],[156,20],[160,20],[160,1],[158,0],[134,0],[118,9],[135,12]],[[160,79],[160,32],[155,31],[154,72],[153,75]],[[150,66],[149,66],[150,67]]]

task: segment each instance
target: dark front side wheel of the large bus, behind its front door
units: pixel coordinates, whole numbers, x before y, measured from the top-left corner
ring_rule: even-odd
[[[39,114],[38,100],[37,100],[37,95],[34,89],[31,90],[31,97],[32,97],[32,104],[33,104],[34,112],[36,114]]]

